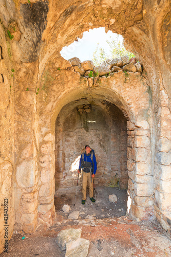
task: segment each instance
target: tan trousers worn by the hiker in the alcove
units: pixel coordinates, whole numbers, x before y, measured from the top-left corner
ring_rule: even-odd
[[[89,196],[90,198],[93,197],[93,180],[91,182],[91,172],[86,173],[83,171],[83,181],[82,181],[82,193],[83,193],[83,200],[86,200],[86,191],[87,191],[87,181],[89,186]]]

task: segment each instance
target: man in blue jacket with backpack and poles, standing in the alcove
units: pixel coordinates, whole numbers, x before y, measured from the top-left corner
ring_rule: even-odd
[[[90,197],[90,200],[92,201],[92,203],[94,203],[95,199],[93,198],[93,178],[96,174],[97,162],[96,162],[96,157],[94,155],[94,151],[87,144],[85,146],[85,153],[83,153],[80,158],[80,165],[79,165],[78,173],[81,172],[81,169],[83,169],[83,172],[82,172],[82,193],[83,193],[82,205],[85,205],[85,201],[86,201],[87,181],[88,181],[88,185],[89,185],[89,197]]]

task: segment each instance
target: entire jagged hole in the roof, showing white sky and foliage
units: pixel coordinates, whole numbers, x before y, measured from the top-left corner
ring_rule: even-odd
[[[103,27],[85,31],[82,39],[78,38],[78,41],[63,47],[60,53],[66,60],[77,57],[81,62],[91,60],[96,66],[101,65],[107,59],[125,55],[130,58],[135,57],[133,53],[125,49],[122,35],[110,30],[106,33]]]

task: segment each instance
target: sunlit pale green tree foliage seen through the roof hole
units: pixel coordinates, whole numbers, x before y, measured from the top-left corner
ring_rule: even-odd
[[[117,38],[111,38],[110,40],[106,40],[110,54],[105,52],[105,49],[99,47],[99,43],[97,44],[96,50],[93,52],[92,61],[94,65],[99,66],[107,59],[115,59],[120,58],[122,56],[129,56],[129,58],[135,57],[134,53],[128,52],[125,47],[122,45],[122,40],[117,36]]]

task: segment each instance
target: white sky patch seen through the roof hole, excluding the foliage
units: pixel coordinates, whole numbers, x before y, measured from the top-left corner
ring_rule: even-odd
[[[61,50],[61,56],[68,60],[72,57],[78,57],[81,62],[86,60],[91,60],[94,50],[96,50],[97,44],[99,43],[99,48],[102,47],[105,49],[107,54],[110,53],[109,46],[106,43],[106,40],[117,38],[116,33],[111,32],[110,30],[105,33],[104,28],[94,28],[89,31],[85,31],[83,38],[79,39],[78,42],[74,41],[69,46],[63,47]],[[122,42],[123,37],[119,35],[119,40]]]

